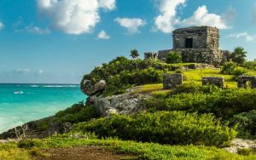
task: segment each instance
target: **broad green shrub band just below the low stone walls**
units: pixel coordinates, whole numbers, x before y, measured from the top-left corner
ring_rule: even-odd
[[[186,90],[188,93],[180,93]],[[190,92],[190,93],[189,93]],[[142,102],[150,111],[189,111],[213,113],[216,117],[228,119],[241,112],[256,110],[256,89],[195,88],[179,89],[160,99],[152,98]]]

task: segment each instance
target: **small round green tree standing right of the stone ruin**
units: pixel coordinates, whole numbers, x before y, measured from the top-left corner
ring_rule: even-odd
[[[237,47],[231,54],[231,59],[238,65],[242,65],[246,62],[247,52],[242,47]]]

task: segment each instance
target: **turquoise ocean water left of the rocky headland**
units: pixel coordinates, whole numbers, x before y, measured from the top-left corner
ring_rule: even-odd
[[[0,84],[0,133],[86,100],[79,85]]]

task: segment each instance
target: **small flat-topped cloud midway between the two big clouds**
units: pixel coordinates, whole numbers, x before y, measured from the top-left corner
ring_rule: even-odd
[[[139,27],[145,26],[147,24],[146,20],[137,18],[116,18],[114,21],[119,23],[120,26],[125,27],[129,34],[139,33]]]

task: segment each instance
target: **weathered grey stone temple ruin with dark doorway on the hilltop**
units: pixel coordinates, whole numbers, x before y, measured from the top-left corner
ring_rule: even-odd
[[[166,60],[171,51],[182,54],[183,62],[207,63],[218,66],[230,59],[230,51],[219,49],[218,28],[193,26],[179,28],[172,32],[173,49],[160,50],[158,53],[145,53],[145,60],[158,58]]]

